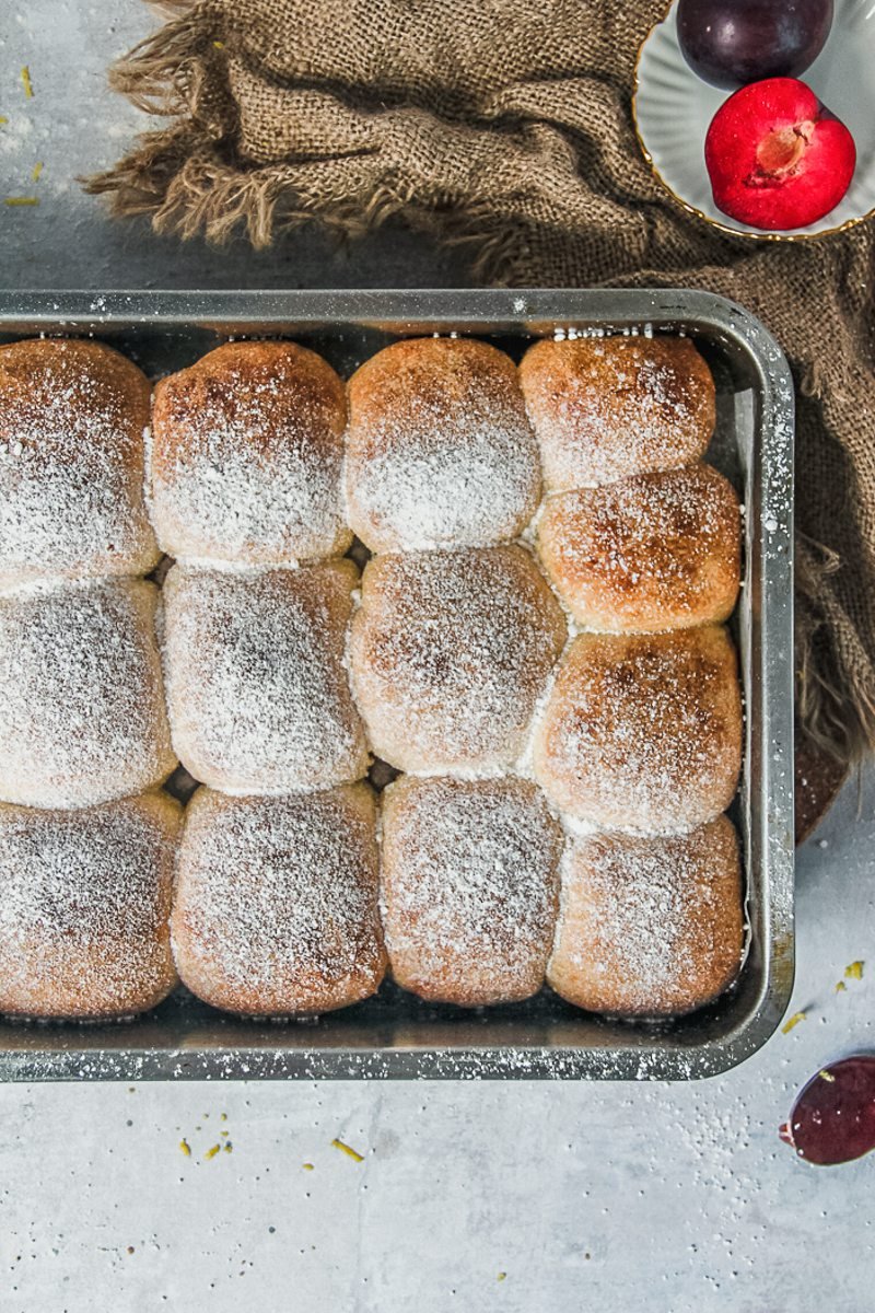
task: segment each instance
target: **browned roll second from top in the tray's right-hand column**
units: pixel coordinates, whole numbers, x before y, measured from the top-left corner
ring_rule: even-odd
[[[710,465],[638,474],[547,502],[538,550],[589,629],[640,633],[725,620],[741,578],[741,513]]]

